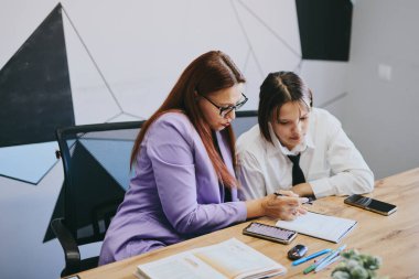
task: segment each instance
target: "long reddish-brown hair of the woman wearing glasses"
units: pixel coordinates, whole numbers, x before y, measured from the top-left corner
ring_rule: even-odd
[[[131,165],[136,162],[141,142],[151,124],[168,111],[180,110],[189,117],[195,127],[222,182],[229,186],[236,185],[236,179],[228,172],[227,167],[214,147],[211,128],[196,105],[196,93],[206,96],[245,82],[245,77],[230,57],[221,51],[211,51],[195,58],[184,69],[160,108],[142,126],[132,148]],[[232,150],[233,164],[236,169],[235,137],[232,127],[227,127],[225,130]]]

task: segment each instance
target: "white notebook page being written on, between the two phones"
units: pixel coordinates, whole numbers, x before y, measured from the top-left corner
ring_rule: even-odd
[[[356,221],[308,212],[293,221],[278,221],[277,227],[339,243],[356,225]]]

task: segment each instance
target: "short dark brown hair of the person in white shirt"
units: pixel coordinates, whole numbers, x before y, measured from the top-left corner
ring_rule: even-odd
[[[300,101],[307,108],[313,106],[313,96],[304,82],[292,72],[270,73],[260,86],[258,122],[264,138],[272,143],[269,121],[275,111],[288,101]]]

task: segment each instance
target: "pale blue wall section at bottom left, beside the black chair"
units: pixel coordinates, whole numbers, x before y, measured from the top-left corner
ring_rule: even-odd
[[[60,164],[36,186],[0,176],[0,278],[58,277],[60,244],[42,240],[62,181]]]

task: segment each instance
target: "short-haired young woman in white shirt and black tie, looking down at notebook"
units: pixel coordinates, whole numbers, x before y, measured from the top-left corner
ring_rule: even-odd
[[[297,74],[271,73],[264,81],[258,122],[237,140],[243,198],[279,190],[316,198],[373,191],[362,154],[334,116],[312,107],[312,93]]]

